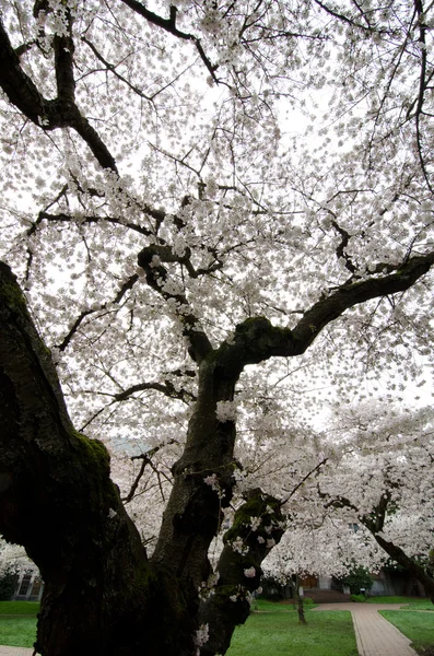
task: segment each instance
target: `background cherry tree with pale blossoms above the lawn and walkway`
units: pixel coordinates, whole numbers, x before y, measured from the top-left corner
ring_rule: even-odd
[[[432,409],[336,408],[321,448],[315,476],[285,500],[291,529],[262,570],[284,583],[342,577],[355,564],[377,572],[391,559],[433,598]]]

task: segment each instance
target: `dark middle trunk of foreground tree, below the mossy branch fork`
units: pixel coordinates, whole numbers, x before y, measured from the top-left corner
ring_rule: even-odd
[[[216,420],[216,406],[232,400],[235,383],[222,376],[212,352],[199,367],[198,398],[187,444],[174,465],[174,488],[152,562],[164,564],[197,590],[210,574],[208,549],[232,499],[235,424]],[[215,478],[215,484],[207,482]]]

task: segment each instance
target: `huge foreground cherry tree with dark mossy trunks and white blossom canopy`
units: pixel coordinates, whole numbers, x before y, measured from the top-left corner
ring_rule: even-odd
[[[247,476],[274,403],[385,368],[390,400],[430,360],[431,28],[419,0],[1,2],[0,531],[43,654],[224,653],[284,530]]]

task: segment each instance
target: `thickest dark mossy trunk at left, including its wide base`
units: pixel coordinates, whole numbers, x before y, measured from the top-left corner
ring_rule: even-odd
[[[75,433],[50,354],[0,265],[0,532],[24,544],[45,591],[37,651],[191,655],[193,599],[151,566],[103,444]]]

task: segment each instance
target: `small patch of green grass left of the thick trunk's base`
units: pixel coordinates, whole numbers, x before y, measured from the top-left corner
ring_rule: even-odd
[[[38,610],[37,601],[0,601],[0,616],[9,616],[0,617],[0,645],[33,647]]]

